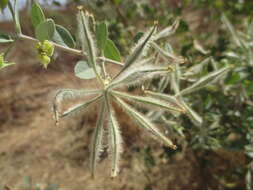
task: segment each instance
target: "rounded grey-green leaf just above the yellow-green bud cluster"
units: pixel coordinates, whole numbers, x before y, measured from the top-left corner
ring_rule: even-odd
[[[35,36],[39,41],[51,40],[55,33],[55,24],[52,19],[40,23],[35,30]]]

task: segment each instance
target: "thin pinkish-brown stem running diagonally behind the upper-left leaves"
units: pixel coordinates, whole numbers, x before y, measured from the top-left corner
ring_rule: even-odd
[[[33,37],[30,37],[30,36],[27,36],[27,35],[24,35],[24,34],[19,34],[18,35],[18,38],[20,39],[24,39],[24,40],[28,40],[28,41],[32,41],[32,42],[39,42],[39,40],[33,38]],[[55,42],[51,42],[56,48],[58,49],[61,49],[63,51],[66,51],[66,52],[69,52],[69,53],[72,53],[72,54],[75,54],[75,55],[79,55],[79,56],[87,56],[86,53],[82,53],[81,50],[78,50],[78,49],[74,49],[74,48],[69,48],[69,47],[66,47],[66,46],[62,46],[62,45],[59,45]],[[108,58],[105,58],[105,57],[98,57],[97,59],[101,60],[101,61],[106,61],[108,63],[112,63],[112,64],[115,64],[115,65],[119,65],[119,66],[123,66],[124,63],[121,63],[121,62],[118,62],[118,61],[114,61],[112,59],[108,59]]]

